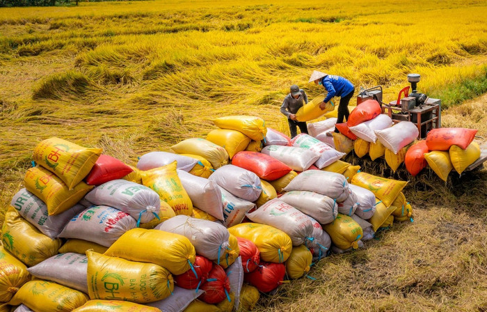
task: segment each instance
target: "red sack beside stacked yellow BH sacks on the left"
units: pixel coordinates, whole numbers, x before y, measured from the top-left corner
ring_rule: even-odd
[[[120,160],[109,155],[100,155],[86,177],[88,185],[102,185],[111,180],[121,179],[134,171]]]

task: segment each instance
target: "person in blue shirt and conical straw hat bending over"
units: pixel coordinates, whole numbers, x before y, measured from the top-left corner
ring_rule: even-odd
[[[328,101],[330,101],[335,96],[340,96],[337,123],[343,123],[344,118],[348,120],[350,114],[349,102],[350,99],[353,97],[353,92],[355,91],[353,84],[344,77],[328,75],[324,72],[319,72],[317,70],[314,70],[311,74],[310,81],[308,82],[311,81],[314,81],[314,84],[321,84],[321,86],[324,86],[324,88],[328,92],[328,95],[326,95],[323,103],[319,105],[319,108],[325,109],[326,103],[328,103]],[[336,127],[335,132],[339,132]],[[331,136],[331,132],[328,132],[327,135]]]

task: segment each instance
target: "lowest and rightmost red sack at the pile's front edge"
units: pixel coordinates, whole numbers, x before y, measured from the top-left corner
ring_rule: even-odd
[[[244,275],[244,281],[262,292],[271,292],[284,281],[285,274],[284,263],[261,262],[257,270]]]

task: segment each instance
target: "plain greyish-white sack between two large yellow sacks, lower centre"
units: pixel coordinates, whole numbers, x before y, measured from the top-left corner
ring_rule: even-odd
[[[183,235],[195,247],[196,253],[209,260],[219,260],[230,247],[227,228],[213,221],[179,214],[155,227],[156,230]]]

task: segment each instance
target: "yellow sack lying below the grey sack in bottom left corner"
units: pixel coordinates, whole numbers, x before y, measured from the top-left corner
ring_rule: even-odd
[[[70,312],[88,302],[79,290],[51,281],[28,281],[8,302],[12,306],[24,304],[35,312]]]

